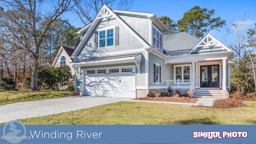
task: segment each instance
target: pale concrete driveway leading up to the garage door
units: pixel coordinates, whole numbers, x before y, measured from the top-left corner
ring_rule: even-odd
[[[24,118],[46,116],[90,108],[114,102],[130,101],[132,98],[114,98],[101,96],[75,96],[28,102],[16,102],[0,106],[0,123]]]

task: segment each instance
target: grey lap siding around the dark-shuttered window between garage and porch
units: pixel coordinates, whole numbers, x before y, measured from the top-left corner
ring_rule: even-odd
[[[161,66],[161,82],[160,84],[156,84],[154,82],[154,64],[158,63]],[[159,58],[158,56],[150,53],[149,54],[149,66],[148,66],[148,74],[149,74],[149,86],[166,86],[165,80],[170,80],[171,78],[171,65],[165,64],[165,60]]]

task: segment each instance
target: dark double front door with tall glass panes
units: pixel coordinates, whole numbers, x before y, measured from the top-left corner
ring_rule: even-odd
[[[200,87],[201,88],[219,88],[220,76],[219,65],[200,66]]]

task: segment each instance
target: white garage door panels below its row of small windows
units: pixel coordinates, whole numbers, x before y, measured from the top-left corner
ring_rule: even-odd
[[[135,72],[88,74],[85,79],[88,95],[135,98]]]

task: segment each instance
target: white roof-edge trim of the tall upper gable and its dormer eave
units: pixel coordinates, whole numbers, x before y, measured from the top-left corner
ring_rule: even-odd
[[[89,26],[85,26],[82,28],[83,30],[78,31],[79,34],[82,34],[85,32],[82,40],[80,40],[78,46],[76,47],[75,51],[72,54],[72,58],[74,58],[81,50],[82,46],[86,43],[86,40],[90,38],[90,35],[92,34],[94,28],[96,28],[97,24],[104,18],[106,17],[114,17],[124,28],[126,28],[135,38],[137,38],[145,47],[149,48],[151,44],[148,43],[138,32],[136,32],[129,24],[127,24],[118,14],[123,14],[123,15],[137,15],[141,16],[144,15],[147,18],[150,18],[152,20],[158,19],[155,14],[150,14],[150,13],[142,13],[142,12],[130,12],[130,11],[122,11],[122,10],[112,10],[111,8],[108,8],[108,6],[103,5],[102,8],[100,9],[99,13],[97,14],[96,18],[89,24]],[[161,28],[163,28],[164,31],[167,30],[167,28],[160,22],[160,20],[155,20],[156,23],[159,23],[159,25],[162,25]]]

